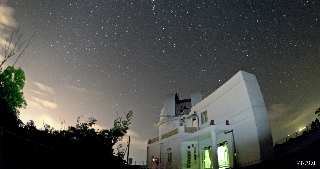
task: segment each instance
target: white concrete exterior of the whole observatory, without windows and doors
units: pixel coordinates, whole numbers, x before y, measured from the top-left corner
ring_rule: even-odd
[[[201,92],[200,92],[201,93]],[[191,93],[191,101],[200,100],[199,93]],[[175,112],[176,95],[166,95],[164,109],[161,115],[172,115]],[[195,99],[197,98],[197,99]],[[201,95],[202,99],[202,95]],[[215,125],[225,125],[226,120],[232,125],[235,137],[236,157],[238,166],[248,166],[260,163],[274,153],[270,124],[266,107],[263,101],[260,87],[254,75],[239,71],[224,85],[210,94],[204,100],[194,105],[189,115],[197,112],[199,122],[201,123],[201,113],[207,111],[208,122],[200,124],[200,130],[210,125],[210,120],[214,120]],[[197,121],[197,120],[196,120]],[[186,126],[192,126],[192,119],[186,119]],[[187,164],[187,151],[192,151],[188,146],[194,144],[198,153],[197,165],[202,166],[202,148],[209,147],[212,144],[211,138],[204,138],[200,141],[184,141],[181,137],[185,132],[181,132],[179,116],[161,117],[158,123],[159,136],[168,133],[175,128],[179,128],[179,133],[169,138],[148,144],[149,152],[159,154],[155,156],[160,159],[160,142],[163,143],[162,161],[167,164],[167,154],[172,153],[172,164]],[[231,127],[230,127],[231,128]],[[204,130],[203,130],[204,131]],[[199,131],[201,133],[201,131]],[[216,131],[217,143],[228,141],[229,160],[233,167],[233,140],[231,133],[224,134]],[[181,147],[182,146],[182,147]],[[171,150],[167,150],[167,149]],[[152,156],[148,154],[148,161]],[[193,153],[191,153],[193,155]],[[151,161],[150,161],[151,162]],[[191,163],[194,162],[194,156],[191,156]],[[149,163],[150,164],[150,163]]]

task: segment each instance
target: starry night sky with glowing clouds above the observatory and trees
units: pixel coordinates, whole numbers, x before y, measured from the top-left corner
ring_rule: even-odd
[[[60,117],[74,126],[83,115],[103,129],[132,109],[129,157],[145,161],[166,94],[208,96],[239,70],[257,77],[274,141],[316,119],[319,9],[312,0],[0,0],[0,54],[11,28],[37,32],[15,64],[27,78],[22,122],[59,129]]]

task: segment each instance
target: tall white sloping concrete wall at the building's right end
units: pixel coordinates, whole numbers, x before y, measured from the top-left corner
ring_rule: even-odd
[[[254,75],[239,71],[192,107],[191,112],[194,111],[200,118],[200,113],[207,111],[208,122],[201,124],[200,120],[200,129],[209,126],[210,120],[216,125],[229,120],[234,129],[238,166],[259,163],[261,158],[273,153],[268,115]]]

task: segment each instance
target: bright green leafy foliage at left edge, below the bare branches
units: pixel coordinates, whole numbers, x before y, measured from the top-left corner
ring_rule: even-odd
[[[22,92],[25,81],[26,77],[21,68],[9,65],[3,72],[0,69],[0,124],[2,126],[17,126],[21,123],[19,108],[27,106]]]

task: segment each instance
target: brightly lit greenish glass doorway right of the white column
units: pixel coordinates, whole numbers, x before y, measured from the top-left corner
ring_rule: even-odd
[[[218,144],[218,160],[219,160],[219,169],[230,167],[227,141]]]

